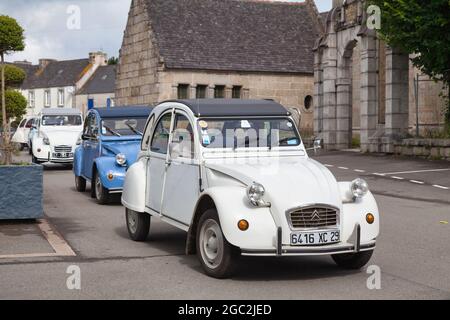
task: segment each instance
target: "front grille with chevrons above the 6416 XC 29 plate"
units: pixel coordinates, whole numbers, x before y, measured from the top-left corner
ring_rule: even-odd
[[[339,210],[328,206],[309,206],[295,208],[287,213],[293,229],[336,227]]]

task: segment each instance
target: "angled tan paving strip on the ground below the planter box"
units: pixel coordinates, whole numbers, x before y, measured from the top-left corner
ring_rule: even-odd
[[[50,226],[46,219],[37,220],[37,227],[42,232],[54,252],[45,253],[25,253],[25,254],[5,254],[0,255],[0,259],[19,259],[19,258],[46,258],[46,257],[74,257],[75,252],[64,240],[64,238]]]

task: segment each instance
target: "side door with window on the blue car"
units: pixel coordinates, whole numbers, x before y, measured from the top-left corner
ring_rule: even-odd
[[[88,179],[92,179],[92,166],[99,153],[98,128],[95,113],[89,113],[83,131],[83,175]]]

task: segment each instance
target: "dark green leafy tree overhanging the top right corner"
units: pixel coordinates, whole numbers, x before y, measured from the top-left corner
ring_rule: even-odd
[[[381,9],[379,34],[391,47],[414,54],[415,67],[448,88],[450,125],[450,1],[369,0]]]

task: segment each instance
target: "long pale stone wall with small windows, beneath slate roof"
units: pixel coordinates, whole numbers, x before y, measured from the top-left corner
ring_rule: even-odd
[[[226,87],[231,98],[233,86],[242,86],[244,99],[273,99],[285,107],[298,108],[302,113],[302,129],[312,132],[313,106],[304,107],[306,96],[313,96],[313,75],[166,70],[159,74],[158,101],[177,98],[178,84],[189,85],[189,98],[195,98],[196,86],[207,85],[207,97],[214,97],[214,87]],[[156,101],[155,101],[156,102]]]

